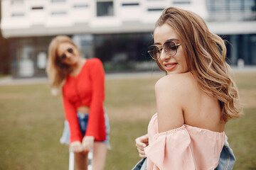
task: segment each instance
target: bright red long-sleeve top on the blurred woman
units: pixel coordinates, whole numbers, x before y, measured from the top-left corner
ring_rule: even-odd
[[[70,142],[82,142],[77,115],[80,106],[90,107],[85,136],[93,136],[96,141],[105,140],[104,99],[105,72],[99,59],[86,60],[78,76],[68,75],[63,86],[63,106],[70,125]]]

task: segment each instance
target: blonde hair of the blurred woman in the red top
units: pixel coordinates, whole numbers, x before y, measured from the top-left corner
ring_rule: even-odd
[[[53,40],[51,40],[48,47],[48,61],[46,73],[48,74],[50,87],[54,95],[60,94],[60,89],[65,82],[65,78],[68,74],[70,74],[70,72],[72,72],[72,68],[70,67],[70,65],[63,63],[57,54],[58,46],[63,42],[68,42],[78,49],[78,47],[68,36],[58,35],[53,38]]]

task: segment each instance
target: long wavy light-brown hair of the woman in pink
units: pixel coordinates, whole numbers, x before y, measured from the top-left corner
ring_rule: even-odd
[[[203,91],[215,96],[220,103],[221,118],[227,122],[242,113],[238,89],[225,62],[225,42],[210,33],[206,22],[196,13],[179,8],[166,8],[156,21],[155,28],[169,24],[181,40],[188,69],[198,80]],[[159,68],[163,71],[159,62]]]

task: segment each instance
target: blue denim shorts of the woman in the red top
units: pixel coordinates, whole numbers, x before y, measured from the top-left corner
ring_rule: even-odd
[[[82,136],[85,135],[85,132],[86,132],[86,129],[87,129],[88,118],[89,118],[88,114],[78,113],[78,120],[79,120],[79,125],[80,125],[80,130],[81,130]],[[107,113],[105,113],[105,126],[106,126],[106,132],[107,132],[106,140],[105,141],[99,141],[99,142],[106,143],[107,147],[110,149],[110,144],[109,144],[109,141],[110,141],[110,123],[109,123],[109,119],[107,117]],[[63,130],[62,137],[60,137],[60,143],[61,144],[66,144],[66,145],[70,144],[70,128],[69,128],[67,120],[65,120],[65,122],[64,122],[64,130]]]

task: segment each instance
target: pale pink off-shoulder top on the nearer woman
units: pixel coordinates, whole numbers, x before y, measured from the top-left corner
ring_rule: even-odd
[[[225,132],[182,125],[158,132],[157,113],[149,123],[149,146],[144,150],[148,170],[210,170],[218,166]]]

